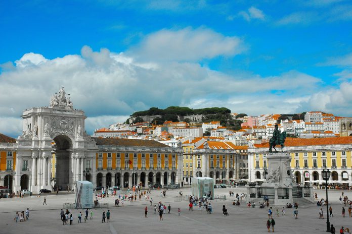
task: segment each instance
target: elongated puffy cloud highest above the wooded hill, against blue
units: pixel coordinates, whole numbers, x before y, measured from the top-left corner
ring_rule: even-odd
[[[245,49],[236,36],[224,36],[206,28],[160,30],[152,33],[129,54],[143,61],[199,61],[234,56]]]

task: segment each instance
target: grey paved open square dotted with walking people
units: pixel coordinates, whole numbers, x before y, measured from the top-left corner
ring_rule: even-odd
[[[94,219],[86,223],[77,223],[79,210],[70,210],[73,213],[73,225],[62,225],[60,210],[63,203],[74,202],[74,195],[55,194],[38,197],[25,197],[23,199],[0,199],[0,233],[267,233],[266,221],[268,218],[266,209],[247,208],[245,201],[240,207],[233,206],[233,197],[228,197],[229,190],[234,193],[245,192],[244,188],[215,189],[215,194],[226,195],[226,201],[212,201],[213,213],[188,210],[188,201],[176,201],[179,190],[167,190],[166,198],[160,198],[160,191],[151,193],[154,203],[162,201],[166,207],[171,206],[171,214],[164,214],[163,221],[159,221],[159,215],[154,214],[153,208],[148,201],[142,198],[137,202],[125,202],[123,207],[115,207],[114,199],[109,197],[100,200],[110,205],[110,223],[102,223],[101,209],[94,209]],[[190,188],[182,189],[184,195],[190,195]],[[315,190],[318,198],[325,198],[325,191]],[[352,198],[352,192],[344,191],[345,195]],[[336,226],[338,233],[341,225],[352,227],[352,218],[341,217],[342,205],[338,198],[341,191],[329,191],[329,200],[333,208],[334,217],[330,222]],[[43,197],[47,198],[48,205],[42,205]],[[226,205],[229,216],[222,215],[222,206]],[[144,217],[144,208],[148,207],[148,217]],[[16,211],[30,209],[29,220],[26,222],[15,222]],[[177,209],[181,209],[178,216]],[[298,219],[293,218],[293,209],[286,209],[286,216],[275,217],[275,232],[279,233],[323,233],[326,230],[326,207],[324,206],[325,219],[318,219],[320,207],[316,204],[299,207]],[[84,212],[82,212],[84,213]]]

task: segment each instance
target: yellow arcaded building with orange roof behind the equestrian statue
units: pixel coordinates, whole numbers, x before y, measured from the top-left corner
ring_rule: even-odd
[[[264,178],[268,168],[269,143],[254,145],[249,149],[250,181]],[[291,155],[291,168],[296,182],[319,183],[321,171],[331,170],[331,181],[341,184],[352,181],[352,137],[287,138],[284,151]]]

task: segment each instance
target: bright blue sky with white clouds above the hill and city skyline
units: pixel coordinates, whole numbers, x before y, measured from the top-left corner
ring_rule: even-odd
[[[0,132],[59,83],[90,133],[151,106],[351,116],[351,23],[339,0],[2,1]]]

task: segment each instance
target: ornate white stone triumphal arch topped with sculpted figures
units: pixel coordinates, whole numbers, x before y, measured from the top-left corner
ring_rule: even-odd
[[[21,117],[23,134],[17,139],[14,191],[21,189],[21,168],[31,169],[31,191],[51,190],[52,155],[56,157],[57,186],[74,188],[76,181],[86,178],[96,185],[98,148],[84,131],[84,111],[73,108],[64,87],[51,97],[49,106],[26,109]]]

